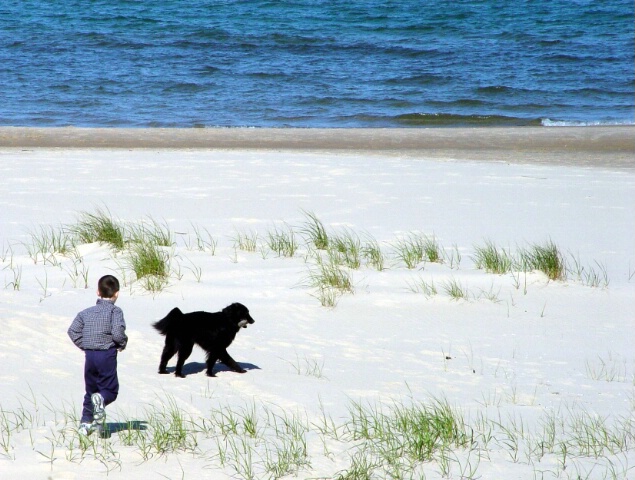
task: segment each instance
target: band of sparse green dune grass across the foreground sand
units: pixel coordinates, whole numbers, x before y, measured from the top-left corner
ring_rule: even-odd
[[[543,408],[530,423],[522,414],[488,414],[485,407],[465,417],[444,399],[351,400],[348,415],[336,422],[324,405],[309,414],[251,401],[191,413],[163,392],[141,420],[111,412],[101,436],[82,437],[78,408],[40,403],[31,393],[17,409],[0,405],[0,456],[44,461],[52,476],[64,462],[134,475],[139,463],[180,455],[204,460],[210,474],[250,479],[426,478],[426,471],[476,479],[482,464],[503,462],[550,478],[592,471],[582,478],[617,480],[633,468],[620,459],[633,451],[635,421],[579,408]],[[31,448],[18,448],[24,444]],[[129,452],[138,460],[122,460]],[[346,466],[322,461],[334,458],[348,458]]]

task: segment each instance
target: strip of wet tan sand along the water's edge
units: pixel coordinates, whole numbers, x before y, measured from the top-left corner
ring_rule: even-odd
[[[635,169],[635,127],[76,128],[0,127],[0,148],[366,152]]]

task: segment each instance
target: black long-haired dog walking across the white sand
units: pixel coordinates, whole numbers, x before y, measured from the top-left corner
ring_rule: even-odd
[[[250,323],[254,323],[254,319],[249,315],[247,307],[240,303],[232,303],[221,312],[215,313],[183,313],[174,308],[165,318],[152,325],[161,335],[165,335],[159,373],[168,373],[168,361],[178,352],[174,374],[185,378],[183,364],[192,353],[195,343],[207,352],[208,376],[215,376],[213,369],[217,360],[235,372],[245,373],[227,353],[227,347],[236,338],[238,331],[247,328]]]

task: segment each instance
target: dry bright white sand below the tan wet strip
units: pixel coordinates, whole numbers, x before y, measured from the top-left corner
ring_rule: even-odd
[[[399,150],[0,148],[0,478],[241,478],[236,465],[268,478],[264,459],[276,436],[265,433],[250,443],[251,463],[228,459],[224,466],[218,452],[231,452],[244,435],[198,434],[194,451],[151,451],[144,460],[139,442],[125,445],[123,430],[81,453],[66,422],[81,408],[83,357],[66,329],[94,303],[96,281],[106,273],[125,280],[118,305],[130,336],[119,357],[120,396],[108,408],[115,427],[147,422],[172,398],[198,422],[217,409],[238,414],[255,405],[263,430],[266,411],[308,424],[325,411],[344,424],[353,402],[442,398],[472,428],[486,418],[493,437],[486,443],[476,429],[473,448],[437,452],[413,478],[635,478],[635,170],[611,163],[610,152],[596,166],[580,165],[576,155],[542,152],[534,163],[509,163],[513,149],[501,152],[505,161],[476,161],[469,150],[443,157]],[[72,224],[97,208],[125,222],[165,221],[178,232],[165,291],[151,295],[131,283],[130,271],[121,270],[125,255],[106,246],[79,247],[87,289],[71,259],[59,257],[56,266],[29,257],[29,232]],[[312,264],[304,246],[292,259],[233,248],[236,232],[257,231],[264,241],[285,222],[299,232],[303,211],[314,212],[329,232],[368,233],[388,257],[383,272],[353,271],[355,293],[334,309],[302,285]],[[187,247],[194,227],[218,240],[214,256]],[[448,255],[458,250],[459,268],[446,262],[407,269],[392,245],[409,232],[434,235]],[[573,274],[551,282],[541,273],[476,270],[474,246],[484,239],[512,251],[551,239],[601,281],[592,287]],[[411,291],[419,279],[433,281],[438,294]],[[442,286],[450,280],[469,291],[469,300],[448,296]],[[186,379],[156,373],[163,338],[151,322],[175,306],[216,311],[234,301],[256,320],[229,349],[248,373],[217,367],[210,379],[198,348]],[[543,455],[538,445],[550,418],[559,425],[556,446]],[[591,430],[601,424],[625,432],[627,445],[582,453],[576,425],[591,419],[601,420]],[[350,467],[355,442],[323,437],[316,427],[306,441],[310,466],[298,478],[333,478]],[[383,472],[378,468],[376,478],[390,478]]]

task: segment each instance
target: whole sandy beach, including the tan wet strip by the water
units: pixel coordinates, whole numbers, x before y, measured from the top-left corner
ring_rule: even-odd
[[[632,126],[4,127],[0,206],[3,478],[635,478]],[[38,250],[86,212],[167,229],[165,285],[135,277],[129,248]],[[332,305],[312,218],[383,255],[340,265],[352,285]],[[272,248],[281,232],[292,255]],[[408,264],[414,239],[440,258]],[[487,244],[515,259],[554,244],[564,274],[487,271]],[[130,343],[113,433],[85,443],[66,329],[107,273]],[[187,378],[157,374],[153,322],[236,301],[256,321],[229,348],[247,373],[206,377],[195,347]],[[364,415],[446,404],[469,439],[428,456],[361,432]]]

